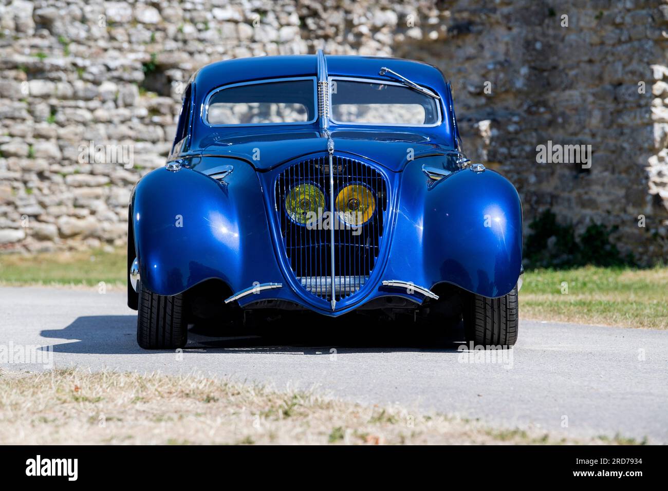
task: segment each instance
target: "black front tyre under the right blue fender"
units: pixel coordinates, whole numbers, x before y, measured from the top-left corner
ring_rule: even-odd
[[[472,295],[464,309],[466,341],[476,345],[510,347],[517,341],[517,285],[504,297]]]

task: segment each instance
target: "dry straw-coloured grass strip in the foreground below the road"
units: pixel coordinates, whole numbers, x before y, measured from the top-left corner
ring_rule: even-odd
[[[0,373],[0,444],[616,444],[187,375]]]

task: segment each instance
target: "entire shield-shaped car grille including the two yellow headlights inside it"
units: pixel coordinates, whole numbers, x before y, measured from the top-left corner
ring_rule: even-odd
[[[333,178],[334,213],[329,209],[329,156],[283,170],[275,204],[297,283],[320,299],[338,302],[359,291],[376,265],[387,218],[387,184],[371,165],[337,155]]]

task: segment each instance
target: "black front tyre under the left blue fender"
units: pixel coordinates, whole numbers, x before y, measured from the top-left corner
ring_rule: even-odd
[[[183,295],[164,297],[138,284],[137,343],[144,349],[182,348],[188,341]]]

